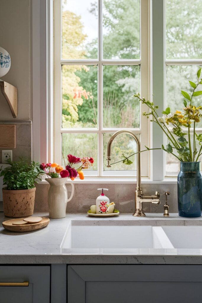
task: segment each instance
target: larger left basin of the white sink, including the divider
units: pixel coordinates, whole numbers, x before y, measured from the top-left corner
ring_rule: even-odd
[[[71,220],[63,241],[62,254],[137,254],[138,250],[174,248],[161,226],[108,225]],[[145,252],[146,252],[145,251]],[[140,252],[140,251],[139,251]]]

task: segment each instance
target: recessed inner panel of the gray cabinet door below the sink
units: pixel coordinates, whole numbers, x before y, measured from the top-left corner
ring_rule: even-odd
[[[85,303],[200,302],[201,288],[202,282],[86,282]]]

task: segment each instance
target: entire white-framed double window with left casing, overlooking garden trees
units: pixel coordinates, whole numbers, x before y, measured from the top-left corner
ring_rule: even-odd
[[[136,157],[132,165],[118,163],[107,170],[108,140],[126,128],[139,136],[142,149],[166,145],[161,129],[142,117],[147,107],[132,95],[153,98],[159,115],[167,106],[175,110],[182,104],[180,90],[189,91],[188,80],[202,66],[201,1],[54,0],[52,5],[33,2],[32,9],[33,158],[61,163],[62,150],[91,155],[95,164],[85,175],[133,176]],[[135,152],[136,145],[122,135],[112,150],[111,162],[116,162],[122,152]],[[179,164],[153,150],[141,154],[141,168],[142,176],[161,181],[176,176]]]

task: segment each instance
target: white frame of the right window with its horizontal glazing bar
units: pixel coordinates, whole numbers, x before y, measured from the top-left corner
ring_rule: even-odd
[[[161,113],[166,107],[166,65],[202,65],[202,60],[166,60],[166,0],[150,0],[150,41],[151,41],[151,85],[150,98],[158,105]],[[153,96],[154,95],[154,96]],[[193,129],[191,129],[193,131]],[[198,128],[197,132],[202,129]],[[151,124],[152,147],[159,148],[166,144],[161,128]],[[152,151],[151,180],[176,182],[178,173],[166,173],[166,152]]]

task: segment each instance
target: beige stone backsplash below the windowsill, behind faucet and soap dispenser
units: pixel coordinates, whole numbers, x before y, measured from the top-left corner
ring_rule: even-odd
[[[37,184],[35,195],[35,212],[48,212],[48,188],[49,184]],[[68,196],[71,194],[71,185],[66,185]],[[67,213],[85,213],[91,205],[96,203],[99,195],[97,188],[108,188],[106,193],[110,201],[114,201],[115,208],[120,212],[134,212],[135,184],[75,184],[75,193],[71,201],[67,203]],[[143,184],[144,195],[155,195],[155,191],[163,194],[170,191],[168,196],[169,212],[178,212],[177,209],[177,184]],[[161,196],[161,204],[144,203],[145,212],[164,212],[165,196]]]

